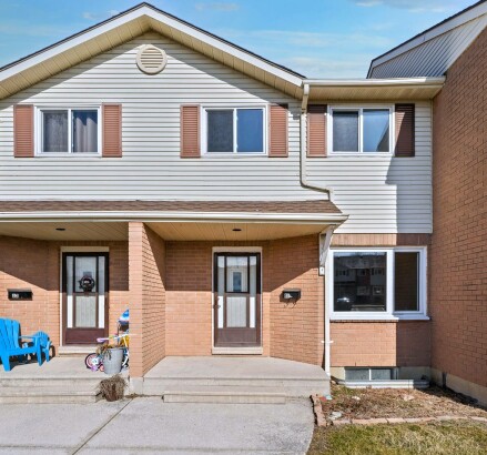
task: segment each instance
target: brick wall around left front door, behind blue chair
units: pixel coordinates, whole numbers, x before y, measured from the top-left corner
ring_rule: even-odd
[[[110,249],[110,333],[128,306],[129,270],[126,242],[48,242],[0,236],[0,317],[20,321],[22,333],[42,330],[60,345],[61,246]],[[31,289],[32,301],[9,301],[8,289]]]

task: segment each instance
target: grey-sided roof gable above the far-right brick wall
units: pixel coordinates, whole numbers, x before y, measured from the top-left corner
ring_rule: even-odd
[[[367,78],[444,75],[486,26],[487,0],[481,0],[375,58]]]

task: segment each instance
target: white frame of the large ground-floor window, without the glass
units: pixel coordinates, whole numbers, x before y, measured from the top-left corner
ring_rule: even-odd
[[[334,310],[334,260],[335,252],[353,253],[386,253],[386,311],[385,312],[335,312]],[[394,253],[419,253],[419,309],[418,311],[394,311]],[[427,247],[426,246],[394,246],[394,247],[334,247],[329,249],[326,261],[326,307],[331,321],[428,321],[427,316]]]

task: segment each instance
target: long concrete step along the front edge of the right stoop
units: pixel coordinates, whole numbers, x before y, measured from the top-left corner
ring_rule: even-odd
[[[154,378],[145,377],[143,382],[144,395],[164,395],[173,393],[225,393],[239,395],[250,394],[280,394],[288,397],[308,397],[318,394],[329,394],[328,381],[316,380],[235,380],[235,378]]]

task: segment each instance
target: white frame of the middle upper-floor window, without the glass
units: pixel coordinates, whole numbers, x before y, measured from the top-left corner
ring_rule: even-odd
[[[236,150],[236,110],[237,109],[262,109],[263,111],[263,141],[264,148],[261,153],[239,153]],[[212,110],[233,110],[233,152],[209,152],[207,151],[207,111]],[[252,104],[252,105],[202,105],[200,108],[200,119],[201,119],[201,152],[203,156],[245,156],[245,158],[256,158],[256,156],[266,156],[267,155],[267,119],[268,119],[268,110],[266,104]]]

